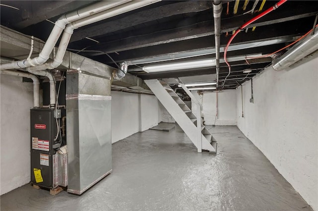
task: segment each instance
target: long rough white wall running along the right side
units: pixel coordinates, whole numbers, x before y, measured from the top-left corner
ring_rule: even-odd
[[[318,211],[318,54],[288,71],[271,67],[237,89],[239,129]]]

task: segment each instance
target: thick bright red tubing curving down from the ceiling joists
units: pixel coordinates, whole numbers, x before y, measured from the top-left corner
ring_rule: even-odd
[[[229,40],[227,47],[225,48],[224,51],[224,60],[227,63],[228,67],[229,67],[229,71],[231,72],[231,66],[229,64],[229,62],[227,61],[227,53],[228,53],[228,49],[230,44],[232,43],[233,39],[239,34],[240,30],[243,30],[246,26],[248,26],[249,24],[253,23],[254,21],[258,20],[259,18],[263,17],[264,15],[270,13],[271,11],[273,11],[274,9],[277,9],[280,5],[282,5],[283,3],[285,3],[287,0],[280,0],[278,3],[276,3],[274,6],[271,6],[270,8],[266,9],[265,11],[263,11],[262,13],[260,13],[259,15],[257,15],[256,17],[250,19],[249,21],[247,21],[246,23],[244,23],[243,25],[241,25],[239,27],[238,30],[235,31],[235,33],[232,35],[231,39]],[[229,72],[229,74],[230,74]],[[229,75],[228,75],[229,76]],[[223,82],[223,84],[225,83],[226,78]]]

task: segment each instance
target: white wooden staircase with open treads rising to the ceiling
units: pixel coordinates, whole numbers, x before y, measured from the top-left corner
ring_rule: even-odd
[[[153,79],[145,80],[145,83],[178,123],[184,133],[190,138],[198,149],[198,152],[204,150],[210,153],[216,153],[217,143],[213,141],[212,134],[201,123],[201,115],[195,115],[165,82]],[[200,118],[199,121],[198,118]],[[197,122],[200,122],[199,128],[197,127]]]

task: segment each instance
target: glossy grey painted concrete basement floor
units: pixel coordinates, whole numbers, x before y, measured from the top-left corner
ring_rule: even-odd
[[[236,126],[208,128],[217,155],[177,129],[147,130],[113,144],[113,172],[81,196],[25,185],[1,210],[311,210]]]

